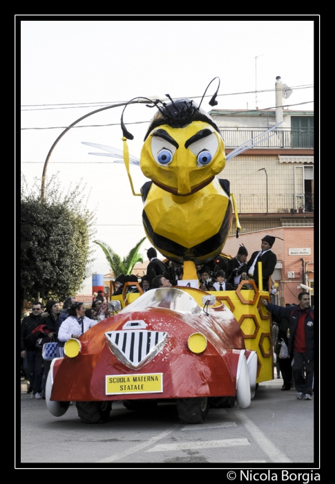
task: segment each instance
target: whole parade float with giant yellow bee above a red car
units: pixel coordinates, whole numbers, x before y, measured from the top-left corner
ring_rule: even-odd
[[[236,236],[240,225],[229,181],[216,178],[226,163],[220,129],[202,101],[166,96],[170,102],[148,100],[157,111],[140,156],[149,178],[140,194],[122,111],[124,164],[133,195],[142,196],[146,236],[166,259],[183,264],[186,283],[198,281],[196,265],[221,254],[233,212]],[[196,423],[210,407],[248,407],[258,383],[273,378],[271,319],[261,306],[269,292],[249,282],[236,291],[204,292],[188,283],[112,295],[115,315],[68,340],[66,356],[52,360],[50,413],[62,416],[74,401],[83,422],[99,423],[117,400],[128,409],[152,409],[169,399],[182,422]]]

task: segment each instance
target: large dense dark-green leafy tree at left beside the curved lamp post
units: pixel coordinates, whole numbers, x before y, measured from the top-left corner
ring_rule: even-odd
[[[75,295],[93,261],[90,239],[93,212],[87,208],[86,189],[80,181],[62,189],[58,176],[46,184],[28,187],[21,174],[21,299],[63,300]]]

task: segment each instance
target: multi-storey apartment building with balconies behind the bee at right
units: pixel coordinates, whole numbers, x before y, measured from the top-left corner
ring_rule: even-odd
[[[220,127],[228,158],[237,147],[248,148],[218,175],[230,182],[242,227],[236,239],[234,220],[224,252],[234,256],[244,243],[251,254],[265,234],[282,237],[284,242],[277,239],[274,245],[274,279],[284,304],[296,302],[300,283],[314,287],[314,111],[284,109],[280,77],[275,86],[276,109],[213,109],[209,114]]]

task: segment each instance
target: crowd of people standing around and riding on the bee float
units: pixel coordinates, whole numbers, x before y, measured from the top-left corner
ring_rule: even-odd
[[[253,252],[247,261],[248,251],[240,245],[236,257],[232,259],[217,257],[206,265],[197,266],[199,288],[205,291],[236,290],[242,280],[258,281],[258,265],[262,263],[262,287],[267,290],[268,281],[276,266],[276,254],[271,251],[276,237],[266,235],[261,241],[261,249]],[[146,274],[140,279],[134,275],[119,275],[115,281],[113,295],[143,292],[154,288],[170,288],[178,286],[182,279],[182,264],[169,261],[164,263],[157,258],[155,248],[147,251],[149,265]],[[133,284],[132,284],[133,283]],[[271,291],[272,292],[272,291]],[[42,356],[43,344],[57,342],[57,354],[64,356],[64,344],[70,338],[79,338],[85,331],[106,317],[113,315],[108,309],[104,292],[94,294],[94,300],[89,308],[83,302],[68,297],[59,310],[59,303],[50,300],[46,307],[41,302],[32,303],[31,313],[23,317],[21,322],[21,358],[23,368],[30,382],[27,393],[39,400],[45,398],[46,378],[50,369],[50,360]],[[279,360],[279,370],[283,376],[282,390],[291,389],[293,382],[298,391],[299,400],[311,400],[313,395],[314,375],[314,310],[310,306],[308,292],[298,295],[300,304],[286,304],[285,307],[262,300],[274,321],[274,349]],[[280,344],[284,342],[288,348],[288,356],[280,358]]]

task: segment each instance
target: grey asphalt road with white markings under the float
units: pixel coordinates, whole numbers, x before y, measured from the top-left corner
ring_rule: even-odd
[[[237,404],[232,409],[210,409],[202,425],[181,424],[173,404],[159,404],[148,415],[125,409],[122,402],[113,403],[106,424],[87,425],[79,420],[75,404],[55,418],[45,400],[21,393],[20,467],[24,463],[36,467],[92,463],[102,468],[213,463],[238,468],[259,463],[276,469],[295,465],[312,469],[314,400],[297,400],[294,389],[280,391],[282,382],[262,382],[247,409]]]

